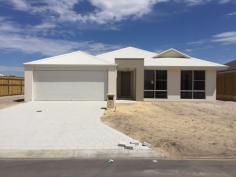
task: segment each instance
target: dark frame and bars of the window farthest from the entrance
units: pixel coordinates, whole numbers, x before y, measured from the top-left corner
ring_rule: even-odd
[[[182,90],[182,72],[184,71],[191,71],[192,72],[192,89],[191,90]],[[195,72],[197,71],[202,71],[204,72],[204,80],[195,80]],[[180,99],[189,99],[189,100],[196,100],[196,99],[199,99],[199,100],[204,100],[206,99],[206,71],[205,70],[181,70],[181,73],[180,73]],[[204,90],[195,90],[195,81],[196,82],[204,82]],[[182,97],[182,93],[185,92],[185,93],[191,93],[191,98],[183,98]],[[194,93],[204,93],[204,98],[195,98],[194,97]]]

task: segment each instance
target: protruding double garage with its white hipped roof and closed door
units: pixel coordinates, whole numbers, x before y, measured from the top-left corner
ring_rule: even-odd
[[[104,101],[116,93],[108,87],[116,65],[85,52],[24,63],[24,70],[25,101]]]

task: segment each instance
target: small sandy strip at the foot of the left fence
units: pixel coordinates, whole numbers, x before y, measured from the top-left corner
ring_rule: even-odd
[[[24,101],[23,95],[0,97],[0,109],[14,106]]]

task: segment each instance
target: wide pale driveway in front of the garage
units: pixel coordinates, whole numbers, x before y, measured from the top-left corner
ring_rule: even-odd
[[[100,121],[105,105],[102,101],[50,101],[0,110],[0,156],[4,150],[123,151],[118,142],[133,139]]]

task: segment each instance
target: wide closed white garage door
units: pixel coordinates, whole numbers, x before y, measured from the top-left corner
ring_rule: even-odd
[[[107,71],[34,71],[34,100],[104,100]]]

